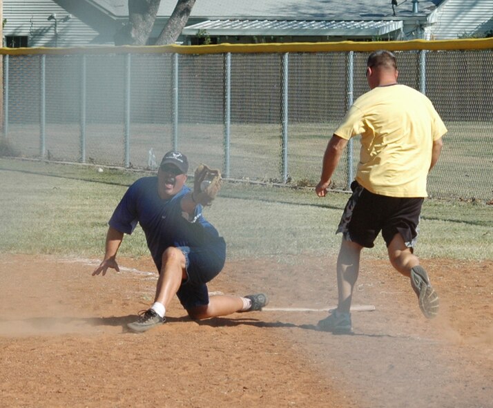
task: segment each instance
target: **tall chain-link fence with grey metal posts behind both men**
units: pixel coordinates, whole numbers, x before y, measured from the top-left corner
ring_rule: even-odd
[[[429,194],[491,200],[493,41],[480,49],[471,40],[428,43],[183,54],[4,49],[3,135],[25,157],[153,168],[177,148],[231,179],[313,185],[333,130],[368,90],[369,52],[398,44],[400,83],[425,93],[449,129]],[[336,188],[347,188],[358,157],[355,139]]]

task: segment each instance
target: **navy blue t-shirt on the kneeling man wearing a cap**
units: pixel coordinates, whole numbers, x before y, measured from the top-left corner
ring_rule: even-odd
[[[157,177],[143,177],[133,183],[110,218],[108,224],[117,231],[131,234],[142,226],[147,246],[157,269],[161,269],[162,254],[169,246],[193,247],[224,245],[218,231],[202,216],[202,206],[195,208],[195,220],[189,222],[182,215],[181,201],[190,188],[169,200],[157,193]]]

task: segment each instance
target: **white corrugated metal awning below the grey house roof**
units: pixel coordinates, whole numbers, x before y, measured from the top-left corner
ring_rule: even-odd
[[[403,21],[291,21],[291,20],[207,20],[185,27],[183,35],[272,35],[374,37],[403,28]]]

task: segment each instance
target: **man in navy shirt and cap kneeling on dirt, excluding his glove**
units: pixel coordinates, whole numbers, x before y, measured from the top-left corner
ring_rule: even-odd
[[[155,300],[150,309],[128,324],[143,332],[165,322],[166,308],[173,295],[193,319],[206,319],[239,311],[258,311],[267,302],[263,293],[245,297],[215,295],[209,298],[206,283],[224,266],[226,243],[202,216],[202,205],[185,186],[189,162],[185,155],[170,151],[164,155],[155,177],[133,183],[109,221],[104,260],[93,275],[119,271],[116,255],[124,234],[142,226],[157,271]],[[197,192],[196,192],[197,193]]]

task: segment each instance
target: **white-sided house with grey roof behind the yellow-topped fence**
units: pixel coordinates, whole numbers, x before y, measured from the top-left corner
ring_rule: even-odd
[[[493,30],[493,0],[397,2],[392,8],[391,0],[200,0],[182,33],[330,41],[383,36],[450,39]],[[175,4],[176,0],[161,1],[151,37],[160,34]],[[54,21],[47,20],[55,13],[57,35]],[[72,19],[66,21],[69,13]],[[29,46],[112,44],[128,19],[128,0],[3,0],[3,15],[4,35],[28,36]]]

